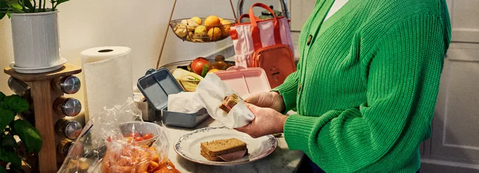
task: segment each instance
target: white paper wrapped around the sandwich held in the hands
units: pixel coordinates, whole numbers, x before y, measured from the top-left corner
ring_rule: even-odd
[[[239,95],[228,84],[214,73],[206,77],[196,86],[196,100],[208,111],[208,114],[215,120],[221,122],[226,127],[236,128],[248,125],[255,115],[244,105],[242,100],[238,102],[229,113],[219,109],[219,104],[223,102],[226,96],[233,93]]]

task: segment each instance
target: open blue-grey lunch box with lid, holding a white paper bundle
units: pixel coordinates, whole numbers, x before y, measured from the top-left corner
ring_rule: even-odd
[[[183,89],[166,68],[157,71],[150,69],[144,77],[138,80],[137,86],[148,100],[151,108],[155,110],[151,112],[161,111],[162,120],[166,125],[192,128],[208,118],[205,109],[196,113],[168,111],[168,95],[180,93]],[[149,116],[151,120],[158,120],[161,117],[157,113]]]

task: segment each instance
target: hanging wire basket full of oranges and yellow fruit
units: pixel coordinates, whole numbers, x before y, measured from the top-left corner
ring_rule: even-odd
[[[205,18],[200,18],[205,21]],[[187,42],[208,43],[217,42],[230,37],[230,27],[235,20],[222,19],[222,25],[198,25],[192,19],[176,19],[169,23],[176,37]]]

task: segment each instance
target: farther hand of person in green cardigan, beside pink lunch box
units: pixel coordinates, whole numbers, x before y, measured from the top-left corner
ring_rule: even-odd
[[[271,108],[278,112],[285,110],[285,101],[283,100],[283,97],[275,91],[251,95],[251,97],[246,98],[244,102],[254,104],[258,107]]]

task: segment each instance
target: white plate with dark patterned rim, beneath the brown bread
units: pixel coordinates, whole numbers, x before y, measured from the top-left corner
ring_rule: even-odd
[[[231,162],[208,161],[208,159],[201,156],[200,143],[227,138],[242,140],[246,143],[249,154],[237,161]],[[274,136],[268,135],[260,138],[251,138],[248,134],[227,127],[205,127],[203,129],[197,129],[178,138],[174,145],[175,152],[189,161],[219,166],[240,165],[258,161],[273,153],[276,147],[278,147],[278,140],[276,140]]]

